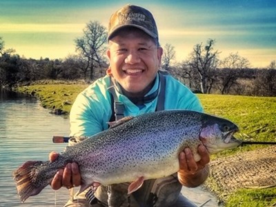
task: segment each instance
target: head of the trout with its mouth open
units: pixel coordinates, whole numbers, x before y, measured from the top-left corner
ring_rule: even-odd
[[[239,128],[232,121],[214,116],[206,117],[206,119],[202,120],[199,139],[210,154],[235,148],[242,144],[242,141],[233,136]]]

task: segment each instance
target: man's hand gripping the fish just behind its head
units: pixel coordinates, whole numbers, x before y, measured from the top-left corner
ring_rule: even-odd
[[[179,171],[178,178],[182,185],[187,187],[196,187],[202,184],[209,175],[207,164],[210,161],[210,155],[205,146],[200,145],[197,149],[201,159],[195,161],[193,152],[190,148],[185,148],[179,153]]]

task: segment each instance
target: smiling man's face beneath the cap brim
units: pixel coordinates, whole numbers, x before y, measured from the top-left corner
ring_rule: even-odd
[[[122,29],[107,51],[112,76],[130,96],[145,95],[157,75],[162,48],[139,29]]]

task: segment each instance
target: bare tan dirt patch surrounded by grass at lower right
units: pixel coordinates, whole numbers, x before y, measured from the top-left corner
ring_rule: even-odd
[[[215,159],[210,176],[225,194],[237,188],[276,186],[276,146]]]

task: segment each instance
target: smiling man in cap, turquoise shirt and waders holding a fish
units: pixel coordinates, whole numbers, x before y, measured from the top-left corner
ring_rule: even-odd
[[[159,72],[162,48],[152,14],[139,6],[126,5],[110,18],[107,75],[79,94],[70,112],[71,136],[90,137],[108,128],[108,121],[155,110],[202,111],[201,104],[186,86]],[[115,107],[115,110],[113,110]],[[92,138],[90,138],[92,139]],[[182,186],[196,187],[208,177],[210,157],[198,147],[201,160],[195,162],[189,148],[179,154],[179,171],[166,178],[145,181],[130,196],[128,184],[93,184],[86,197],[68,201],[83,206],[195,206],[180,194]],[[50,155],[55,160],[57,153]],[[81,184],[78,166],[68,164],[52,180],[52,188],[72,188]],[[94,188],[94,189],[95,189]]]

